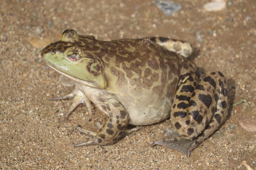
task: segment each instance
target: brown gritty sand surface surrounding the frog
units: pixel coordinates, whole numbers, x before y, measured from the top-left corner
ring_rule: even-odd
[[[256,133],[238,123],[256,119],[255,0],[231,0],[218,12],[203,10],[207,0],[176,2],[182,9],[166,16],[149,0],[1,0],[0,169],[246,169],[243,160],[256,169]],[[110,146],[74,148],[89,139],[77,125],[97,131],[95,123],[107,117],[94,105],[90,117],[80,105],[62,122],[71,101],[49,100],[72,90],[40,57],[65,29],[100,40],[162,36],[191,42],[198,49],[193,62],[227,77],[229,103],[245,102],[230,107],[229,120],[189,158],[151,146],[170,120]]]

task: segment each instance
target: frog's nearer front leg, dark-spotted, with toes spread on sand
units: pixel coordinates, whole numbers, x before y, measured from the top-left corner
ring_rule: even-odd
[[[109,118],[106,124],[100,127],[100,130],[95,133],[82,128],[77,128],[82,133],[86,133],[92,136],[93,139],[78,143],[77,146],[84,145],[108,145],[115,143],[120,138],[127,134],[137,131],[140,128],[125,129],[129,123],[129,115],[124,106],[115,98],[108,99],[105,102],[106,110],[109,114]]]

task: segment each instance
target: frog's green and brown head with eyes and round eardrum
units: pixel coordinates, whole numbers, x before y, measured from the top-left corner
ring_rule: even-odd
[[[92,36],[79,36],[74,30],[65,30],[60,41],[42,50],[41,57],[47,65],[70,79],[90,87],[104,88],[101,60],[90,53],[92,48],[86,50],[91,41],[96,40]]]

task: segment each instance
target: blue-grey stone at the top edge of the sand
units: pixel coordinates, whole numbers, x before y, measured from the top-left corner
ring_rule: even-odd
[[[156,1],[156,6],[165,15],[171,16],[181,9],[181,5],[172,1]]]

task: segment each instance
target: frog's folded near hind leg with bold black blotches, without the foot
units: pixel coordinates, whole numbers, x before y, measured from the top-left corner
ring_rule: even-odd
[[[181,137],[194,139],[200,133],[203,138],[212,134],[227,117],[227,89],[221,72],[206,76],[195,87],[186,80],[176,91],[172,123]],[[189,88],[187,88],[189,87]]]

